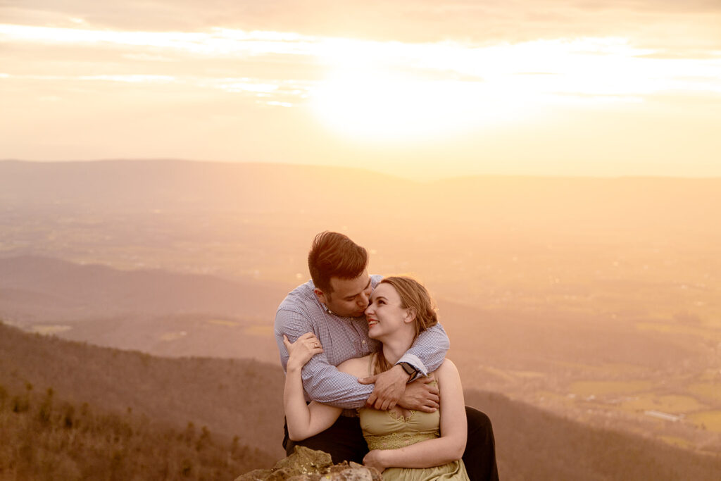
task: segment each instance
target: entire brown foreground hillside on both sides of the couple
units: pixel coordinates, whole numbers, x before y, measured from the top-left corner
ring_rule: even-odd
[[[283,456],[276,366],[156,358],[0,325],[0,385],[5,479],[232,479]],[[716,480],[721,472],[719,456],[499,394],[467,391],[466,403],[492,419],[504,480]]]

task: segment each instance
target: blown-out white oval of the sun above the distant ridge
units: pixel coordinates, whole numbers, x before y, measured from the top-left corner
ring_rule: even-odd
[[[511,102],[478,81],[434,79],[365,66],[339,69],[311,105],[328,128],[361,141],[432,141],[497,123]]]

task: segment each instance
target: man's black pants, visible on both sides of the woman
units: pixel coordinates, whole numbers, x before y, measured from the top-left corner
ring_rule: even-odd
[[[471,481],[497,480],[498,467],[491,420],[483,412],[468,406],[466,406],[466,418],[468,418],[468,441],[463,462],[468,477]],[[340,416],[330,428],[303,441],[288,439],[287,424],[285,431],[283,448],[288,455],[293,454],[293,448],[298,445],[325,451],[330,454],[334,463],[354,461],[362,464],[363,457],[368,454],[368,444],[363,438],[361,422],[358,418]]]

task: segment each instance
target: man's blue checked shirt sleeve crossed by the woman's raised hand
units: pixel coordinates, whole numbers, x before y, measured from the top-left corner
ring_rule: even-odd
[[[314,332],[315,335],[319,335],[304,314],[278,309],[275,314],[274,333],[283,371],[286,371],[288,366],[288,350],[283,345],[283,334],[288,336],[291,343],[294,343],[306,332]],[[303,388],[311,400],[344,409],[363,407],[375,386],[375,384],[361,384],[355,376],[338,371],[328,362],[325,353],[316,354],[303,366],[301,378],[303,379]]]

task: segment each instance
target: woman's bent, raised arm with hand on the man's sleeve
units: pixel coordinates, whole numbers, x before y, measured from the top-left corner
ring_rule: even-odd
[[[290,354],[286,366],[286,386],[283,389],[288,438],[292,441],[302,441],[329,428],[335,423],[342,410],[340,407],[315,401],[306,405],[301,370],[311,357],[323,352],[317,337],[312,332],[307,332],[298,337],[295,343],[291,343],[288,337],[283,335],[283,344]]]

